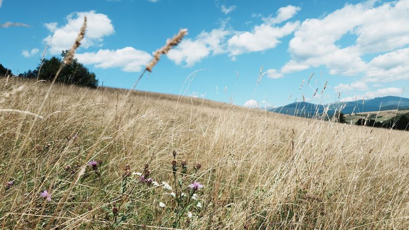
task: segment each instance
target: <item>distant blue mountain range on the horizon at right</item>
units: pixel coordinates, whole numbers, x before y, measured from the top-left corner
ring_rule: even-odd
[[[329,105],[329,114],[334,114],[339,108],[345,106],[342,110],[344,114],[352,112],[371,112],[391,109],[409,109],[409,99],[395,96],[387,96],[381,98],[374,98],[370,100],[349,101],[349,102],[335,102],[326,105],[317,105],[309,102],[294,102],[285,106],[268,109],[271,112],[278,112],[293,116],[310,118],[316,113],[323,113],[325,108]]]

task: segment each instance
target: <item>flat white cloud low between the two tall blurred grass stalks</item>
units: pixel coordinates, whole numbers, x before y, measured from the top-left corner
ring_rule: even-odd
[[[140,72],[151,59],[151,55],[145,51],[125,47],[77,54],[76,58],[83,64],[93,64],[97,68],[120,67],[125,72]]]

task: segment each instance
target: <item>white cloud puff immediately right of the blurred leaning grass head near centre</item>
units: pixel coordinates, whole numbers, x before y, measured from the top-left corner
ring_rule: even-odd
[[[169,51],[167,57],[176,64],[186,63],[192,66],[211,54],[221,54],[225,52],[225,39],[231,32],[221,29],[214,29],[211,32],[201,32],[196,39],[190,38],[182,40],[176,48]]]

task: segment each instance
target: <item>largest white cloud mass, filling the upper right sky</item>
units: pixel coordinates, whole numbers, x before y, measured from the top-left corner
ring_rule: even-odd
[[[409,0],[383,3],[367,1],[347,4],[323,18],[310,18],[302,22],[289,42],[292,59],[282,68],[282,73],[292,73],[309,67],[325,65],[332,75],[356,76],[392,80],[388,74],[399,73],[407,78],[404,65],[377,66],[362,59],[367,54],[394,52],[409,44]],[[379,28],[382,28],[381,30]],[[352,44],[343,47],[337,42],[345,36],[356,37]],[[351,36],[352,35],[352,36]],[[391,53],[390,56],[405,56]],[[392,60],[392,57],[382,57]],[[387,62],[386,60],[379,61]],[[376,77],[375,77],[376,76]]]

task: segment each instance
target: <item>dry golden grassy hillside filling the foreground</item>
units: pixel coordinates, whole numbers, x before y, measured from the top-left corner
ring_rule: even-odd
[[[0,86],[5,229],[409,225],[405,131],[56,85],[30,132],[49,84]]]

